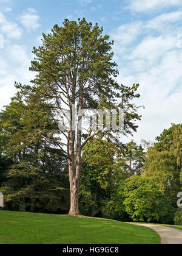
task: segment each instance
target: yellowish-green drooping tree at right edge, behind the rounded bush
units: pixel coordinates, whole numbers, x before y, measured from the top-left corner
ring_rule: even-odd
[[[178,126],[177,126],[178,127]],[[165,129],[153,147],[147,152],[144,175],[150,177],[160,190],[177,205],[177,194],[181,191],[181,165],[178,165],[179,154],[175,146],[176,126]],[[176,137],[175,137],[176,138]]]

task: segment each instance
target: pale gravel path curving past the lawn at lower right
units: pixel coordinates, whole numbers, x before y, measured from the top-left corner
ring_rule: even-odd
[[[182,244],[181,230],[152,224],[136,224],[155,230],[161,236],[161,244]]]

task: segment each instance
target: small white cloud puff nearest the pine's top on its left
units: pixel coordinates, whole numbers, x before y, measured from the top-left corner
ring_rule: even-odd
[[[41,25],[38,23],[39,15],[33,8],[27,9],[23,15],[21,15],[18,20],[27,29],[28,32],[38,29]]]

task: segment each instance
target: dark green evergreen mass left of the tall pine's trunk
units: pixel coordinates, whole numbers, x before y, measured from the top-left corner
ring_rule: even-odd
[[[5,208],[66,213],[62,205],[69,197],[67,158],[62,149],[39,135],[40,127],[51,123],[36,110],[19,101],[18,94],[0,115],[1,137],[7,138],[1,154],[12,159],[1,184]]]

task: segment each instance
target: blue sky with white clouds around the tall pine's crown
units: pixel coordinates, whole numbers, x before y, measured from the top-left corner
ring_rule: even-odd
[[[154,141],[171,123],[182,123],[181,0],[0,0],[0,108],[15,93],[15,80],[33,78],[32,49],[42,32],[83,17],[115,40],[118,82],[140,84],[137,104],[145,109],[134,139]]]

